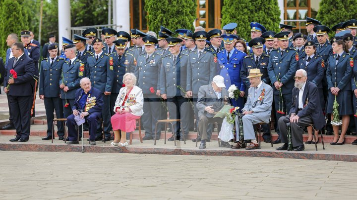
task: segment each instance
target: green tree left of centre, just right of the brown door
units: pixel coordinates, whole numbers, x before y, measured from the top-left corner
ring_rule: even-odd
[[[196,18],[196,0],[145,0],[144,9],[148,29],[158,33],[160,25],[171,31],[193,29]]]

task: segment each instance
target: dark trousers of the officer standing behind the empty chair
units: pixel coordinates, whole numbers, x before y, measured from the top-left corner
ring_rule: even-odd
[[[170,120],[181,120],[183,132],[185,135],[188,135],[189,107],[191,104],[186,98],[182,96],[175,96],[167,99],[167,105],[169,107]],[[180,123],[173,122],[173,125],[174,132],[179,137]]]

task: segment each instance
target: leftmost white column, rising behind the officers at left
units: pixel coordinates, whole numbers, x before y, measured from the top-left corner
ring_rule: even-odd
[[[70,1],[59,0],[58,1],[59,12],[59,44],[61,47],[62,37],[71,39],[70,31]]]

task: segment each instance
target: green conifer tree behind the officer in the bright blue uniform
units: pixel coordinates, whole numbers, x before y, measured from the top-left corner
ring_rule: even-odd
[[[269,15],[269,16],[268,16]],[[279,31],[280,9],[277,0],[224,0],[222,27],[236,22],[237,34],[250,40],[250,22],[258,22],[268,31]]]

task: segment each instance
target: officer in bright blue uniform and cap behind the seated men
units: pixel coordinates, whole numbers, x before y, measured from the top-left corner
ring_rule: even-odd
[[[224,78],[226,89],[234,84],[240,90],[239,98],[237,100],[231,99],[232,106],[238,106],[240,111],[244,107],[243,97],[245,94],[245,84],[240,79],[240,69],[246,54],[234,47],[233,41],[237,39],[237,36],[225,34],[222,35],[222,38],[225,43],[225,50],[217,54],[219,74]]]

